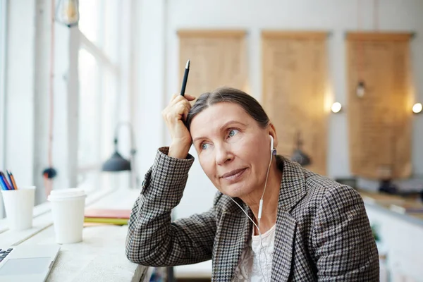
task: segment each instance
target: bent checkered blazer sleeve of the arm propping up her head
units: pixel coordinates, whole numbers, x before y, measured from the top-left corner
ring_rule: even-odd
[[[157,267],[212,259],[214,208],[171,222],[171,210],[183,196],[194,158],[175,159],[167,153],[168,147],[159,149],[142,183],[128,221],[126,256],[131,262]]]

